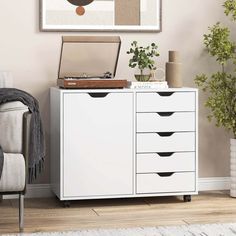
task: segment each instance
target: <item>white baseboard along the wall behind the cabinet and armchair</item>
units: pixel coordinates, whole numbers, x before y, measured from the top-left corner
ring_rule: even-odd
[[[230,177],[199,178],[199,191],[217,191],[230,189]],[[26,198],[52,197],[50,184],[29,184],[27,186]],[[14,199],[16,195],[4,196],[4,199]]]

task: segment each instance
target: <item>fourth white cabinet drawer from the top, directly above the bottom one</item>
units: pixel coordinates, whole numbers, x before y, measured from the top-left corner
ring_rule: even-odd
[[[137,173],[195,171],[195,153],[137,154]]]

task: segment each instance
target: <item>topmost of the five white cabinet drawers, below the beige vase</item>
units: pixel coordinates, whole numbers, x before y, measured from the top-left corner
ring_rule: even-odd
[[[137,93],[138,112],[195,111],[195,92]]]

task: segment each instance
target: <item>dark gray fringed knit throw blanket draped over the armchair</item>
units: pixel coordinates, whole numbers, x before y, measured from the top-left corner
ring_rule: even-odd
[[[38,101],[25,91],[14,88],[0,88],[0,105],[6,102],[20,101],[28,106],[32,113],[29,143],[29,182],[35,180],[42,172],[45,158],[44,132],[39,113]],[[1,135],[1,131],[0,131]],[[0,147],[0,178],[4,164],[3,150]]]

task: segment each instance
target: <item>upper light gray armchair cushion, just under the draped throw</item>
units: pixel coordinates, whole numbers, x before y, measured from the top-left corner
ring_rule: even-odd
[[[0,106],[0,144],[6,153],[22,153],[23,114],[28,107],[21,102]]]

